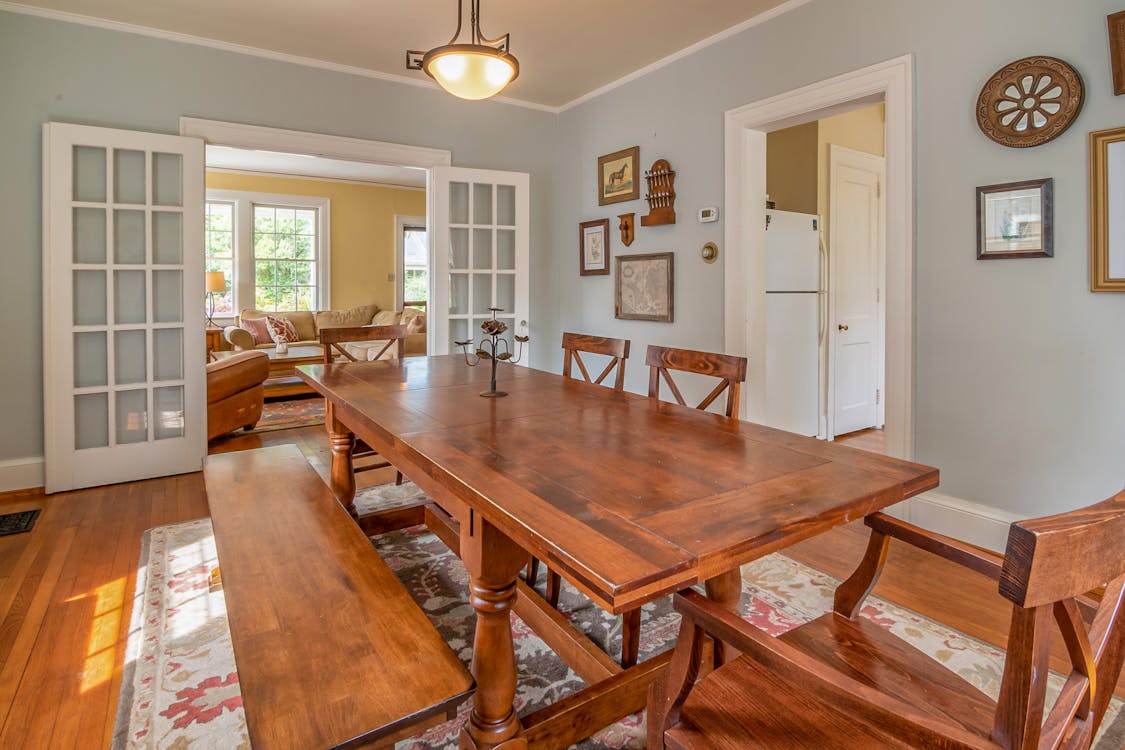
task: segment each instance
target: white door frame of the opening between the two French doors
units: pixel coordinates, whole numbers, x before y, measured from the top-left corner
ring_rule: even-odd
[[[433,168],[451,166],[453,154],[448,148],[410,146],[386,141],[368,141],[324,133],[287,130],[285,128],[225,123],[199,117],[181,117],[180,135],[202,138],[205,145],[232,146],[234,148],[260,148],[286,154],[308,154],[349,162],[367,162],[389,166],[413,166],[424,169],[426,191],[426,226],[433,215]],[[433,269],[434,238],[430,241],[430,268]],[[430,274],[430,298],[433,298],[433,274]],[[426,336],[426,346],[432,347],[432,337]],[[431,352],[432,353],[432,349]]]

